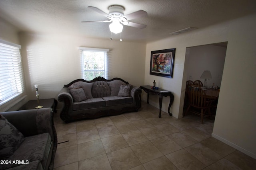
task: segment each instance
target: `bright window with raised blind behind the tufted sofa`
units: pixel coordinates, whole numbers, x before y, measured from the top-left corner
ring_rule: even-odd
[[[79,47],[82,63],[82,78],[92,80],[95,77],[108,78],[109,49]]]

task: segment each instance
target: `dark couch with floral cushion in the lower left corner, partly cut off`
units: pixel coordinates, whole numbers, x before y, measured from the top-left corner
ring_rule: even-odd
[[[57,135],[52,108],[0,113],[0,170],[52,170]]]

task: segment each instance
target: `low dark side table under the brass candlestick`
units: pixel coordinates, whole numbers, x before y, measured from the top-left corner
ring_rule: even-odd
[[[39,99],[39,104],[40,104],[40,106],[43,106],[43,108],[51,107],[54,110],[54,112],[56,113],[56,107],[57,107],[58,102],[54,98]],[[36,106],[38,106],[37,100],[29,100],[28,102],[26,102],[26,104],[21,106],[18,110],[35,109]]]

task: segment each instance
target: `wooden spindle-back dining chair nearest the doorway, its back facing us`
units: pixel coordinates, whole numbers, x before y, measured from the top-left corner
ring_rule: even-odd
[[[206,100],[206,94],[200,86],[192,85],[188,87],[188,101],[189,105],[185,115],[191,107],[194,107],[195,109],[190,112],[200,115],[201,123],[203,123],[204,117],[211,118],[210,106],[212,100]],[[208,111],[208,115],[206,114],[206,111]]]

